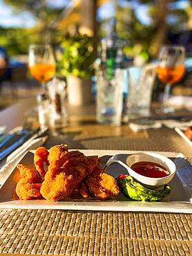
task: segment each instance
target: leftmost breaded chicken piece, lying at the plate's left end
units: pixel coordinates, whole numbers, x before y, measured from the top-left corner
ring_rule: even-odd
[[[16,186],[16,193],[21,200],[41,199],[41,181],[39,180],[35,170],[25,165],[17,165],[20,172],[20,179]]]

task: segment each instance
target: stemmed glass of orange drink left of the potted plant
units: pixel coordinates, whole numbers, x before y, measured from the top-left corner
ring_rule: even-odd
[[[55,58],[49,44],[32,44],[29,48],[29,70],[41,82],[46,92],[46,82],[55,75]]]

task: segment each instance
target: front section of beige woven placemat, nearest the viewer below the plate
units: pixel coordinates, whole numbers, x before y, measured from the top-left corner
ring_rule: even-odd
[[[190,255],[192,214],[1,210],[0,253]]]

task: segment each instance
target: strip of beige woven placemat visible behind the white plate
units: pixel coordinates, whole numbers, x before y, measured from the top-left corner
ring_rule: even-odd
[[[101,125],[94,130],[95,125],[80,127],[79,131],[60,133],[50,136],[46,147],[66,143],[70,149],[105,149],[105,150],[136,150],[154,152],[178,152],[184,154],[192,162],[191,145],[186,142],[174,129],[162,127],[161,129],[148,129],[140,133],[133,133],[128,127],[124,127],[123,134],[111,136],[111,127]],[[83,129],[83,131],[81,130]],[[118,127],[117,134],[118,134]],[[87,132],[84,133],[84,130]],[[108,131],[108,136],[106,132]],[[97,135],[99,134],[99,135]],[[102,135],[104,134],[104,135]]]

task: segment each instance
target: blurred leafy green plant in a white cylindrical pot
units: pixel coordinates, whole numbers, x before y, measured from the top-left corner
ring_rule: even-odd
[[[64,53],[59,61],[60,72],[66,77],[68,102],[88,104],[93,100],[91,77],[95,60],[93,39],[87,35],[66,36],[61,42]]]

